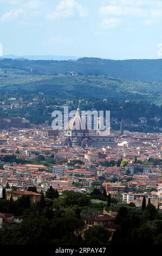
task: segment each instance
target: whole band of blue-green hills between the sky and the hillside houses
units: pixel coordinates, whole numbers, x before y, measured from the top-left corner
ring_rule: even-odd
[[[0,95],[161,103],[162,60],[0,60]],[[72,72],[73,71],[73,72]]]

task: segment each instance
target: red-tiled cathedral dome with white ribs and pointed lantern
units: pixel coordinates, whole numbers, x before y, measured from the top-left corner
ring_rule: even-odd
[[[66,126],[66,130],[87,130],[86,120],[81,117],[80,109],[77,108],[76,114],[72,117]]]

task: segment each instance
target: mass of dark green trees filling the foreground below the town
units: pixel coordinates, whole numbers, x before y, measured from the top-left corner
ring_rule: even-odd
[[[30,191],[35,188],[30,187]],[[51,188],[48,193],[53,193]],[[162,216],[159,210],[148,203],[145,209],[136,208],[134,204],[121,204],[117,199],[106,196],[98,188],[90,194],[66,191],[63,196],[53,196],[53,199],[41,196],[41,201],[31,204],[28,197],[22,197],[16,202],[0,200],[0,212],[23,216],[20,224],[4,225],[0,230],[0,244],[44,244],[44,245],[161,245]],[[96,196],[96,199],[93,197]],[[100,197],[105,201],[100,201]],[[115,202],[116,200],[116,202]],[[118,211],[116,216],[116,231],[112,241],[108,241],[111,232],[100,225],[85,232],[85,240],[74,235],[75,229],[85,227],[83,218],[89,215],[99,215],[107,210]]]

